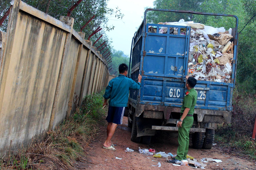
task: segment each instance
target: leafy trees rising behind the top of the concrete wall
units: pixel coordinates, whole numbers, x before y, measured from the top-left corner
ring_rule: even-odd
[[[11,0],[1,0],[0,1],[0,18],[5,14],[7,9],[10,6]],[[59,19],[60,16],[67,16],[68,10],[72,7],[77,0],[23,0],[24,2],[28,3],[42,12],[47,13],[50,16]],[[104,45],[107,45],[109,51],[112,50],[111,43],[112,41],[109,40],[108,36],[105,34],[105,31],[110,31],[114,29],[114,26],[107,25],[108,20],[110,17],[116,17],[117,19],[122,19],[124,16],[120,9],[115,8],[107,8],[108,0],[83,0],[81,3],[71,12],[71,16],[73,17],[74,22],[74,29],[76,31],[80,31],[81,27],[85,25],[89,19],[95,15],[94,19],[82,30],[85,32],[85,39],[87,39],[93,31],[95,31],[99,26],[103,28],[100,32],[96,35],[92,36],[90,40],[94,43],[97,38],[101,35],[102,38],[95,44],[95,46],[100,46],[103,42],[106,42]],[[5,31],[7,30],[7,23],[8,19],[5,20],[4,24],[0,27],[0,30]],[[103,47],[103,46],[102,46]],[[101,48],[102,48],[101,47]],[[100,49],[101,49],[100,48]],[[99,49],[99,50],[100,50]],[[107,49],[107,48],[105,48]],[[105,51],[102,50],[101,53]]]

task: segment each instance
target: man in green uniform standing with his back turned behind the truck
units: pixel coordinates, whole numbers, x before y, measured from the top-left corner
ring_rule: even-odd
[[[170,163],[175,163],[175,161],[181,161],[187,159],[188,145],[189,145],[189,131],[193,125],[194,108],[196,105],[197,93],[194,89],[196,85],[196,79],[194,77],[186,76],[186,92],[183,98],[181,106],[181,118],[177,123],[178,126],[178,149],[177,156],[173,160],[169,160]]]

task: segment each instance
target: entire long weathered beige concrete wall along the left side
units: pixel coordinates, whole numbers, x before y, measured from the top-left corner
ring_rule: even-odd
[[[108,79],[105,60],[73,29],[74,19],[60,20],[13,2],[0,32],[0,155],[53,129]]]

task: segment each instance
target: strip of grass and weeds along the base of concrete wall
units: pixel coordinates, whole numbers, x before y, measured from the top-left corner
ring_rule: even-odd
[[[52,164],[56,169],[72,169],[73,162],[85,157],[83,146],[94,139],[106,110],[102,110],[103,93],[88,95],[69,119],[63,121],[54,131],[47,131],[47,137],[40,143],[31,143],[9,160],[0,160],[0,169],[38,169],[37,165]],[[53,168],[51,167],[51,168]]]

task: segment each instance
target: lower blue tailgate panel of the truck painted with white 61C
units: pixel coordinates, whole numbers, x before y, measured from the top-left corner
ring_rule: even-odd
[[[181,107],[187,89],[184,81],[175,78],[143,76],[140,104]],[[198,81],[196,109],[231,110],[229,83]]]

